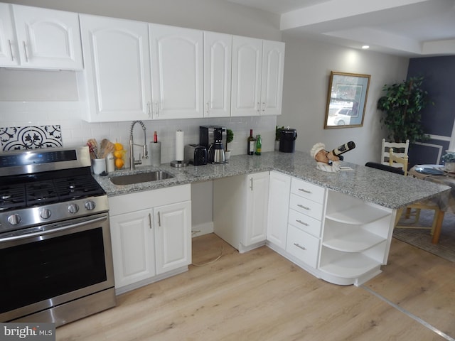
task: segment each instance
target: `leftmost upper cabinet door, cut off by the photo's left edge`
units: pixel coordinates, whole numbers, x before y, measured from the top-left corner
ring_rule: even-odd
[[[11,5],[0,4],[0,66],[19,65]]]

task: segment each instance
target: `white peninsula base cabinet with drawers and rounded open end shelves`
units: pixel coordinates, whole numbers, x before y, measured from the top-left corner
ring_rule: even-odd
[[[274,218],[269,218],[267,244],[272,249],[314,276],[335,284],[358,286],[380,274],[390,249],[395,220],[392,210],[291,178],[284,229],[284,220],[279,219],[284,204],[275,206],[279,200],[272,197],[280,193],[286,202],[287,183],[279,187],[279,176],[271,174],[270,178],[268,215]],[[271,224],[278,219],[280,224]],[[285,248],[277,247],[282,236],[286,236]]]

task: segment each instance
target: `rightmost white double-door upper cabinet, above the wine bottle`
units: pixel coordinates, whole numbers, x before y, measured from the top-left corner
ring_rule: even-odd
[[[232,116],[282,112],[284,43],[232,37]]]

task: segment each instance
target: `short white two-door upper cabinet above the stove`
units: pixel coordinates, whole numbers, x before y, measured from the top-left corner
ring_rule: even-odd
[[[82,70],[77,13],[0,4],[0,65]]]

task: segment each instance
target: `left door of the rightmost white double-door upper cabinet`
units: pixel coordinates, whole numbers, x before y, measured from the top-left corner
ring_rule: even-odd
[[[231,116],[259,116],[262,40],[232,37]]]

